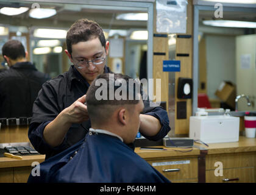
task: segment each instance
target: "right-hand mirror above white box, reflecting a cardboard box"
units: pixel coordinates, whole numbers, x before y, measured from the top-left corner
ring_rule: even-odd
[[[252,105],[241,98],[238,110],[255,110],[256,35],[251,25],[256,13],[226,11],[223,18],[214,13],[199,10],[198,107],[235,110],[236,96],[245,94]]]

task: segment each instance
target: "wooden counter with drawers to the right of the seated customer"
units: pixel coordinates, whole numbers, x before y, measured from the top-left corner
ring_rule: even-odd
[[[164,147],[166,151],[136,148],[135,152],[171,182],[256,182],[256,138],[241,136],[237,142],[195,145],[201,150],[177,152],[188,149]]]

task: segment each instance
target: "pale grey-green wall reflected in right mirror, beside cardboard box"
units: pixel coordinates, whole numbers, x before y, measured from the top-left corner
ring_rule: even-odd
[[[207,61],[207,94],[217,98],[215,91],[223,80],[236,83],[235,79],[235,37],[205,35]]]

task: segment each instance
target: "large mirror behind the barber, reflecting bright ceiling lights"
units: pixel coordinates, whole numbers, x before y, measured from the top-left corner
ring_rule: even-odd
[[[56,13],[48,18],[32,18],[29,15],[30,10],[37,6],[43,9],[55,9]],[[88,18],[99,23],[105,32],[106,39],[110,41],[110,50],[111,47],[114,48],[107,58],[107,65],[112,71],[128,74],[131,77],[140,78],[140,74],[142,74],[143,77],[152,78],[152,60],[149,60],[152,59],[153,37],[153,5],[151,1],[73,1],[72,3],[58,0],[37,3],[35,1],[1,1],[1,7],[27,7],[29,9],[19,15],[1,14],[0,26],[4,30],[0,29],[0,32],[7,30],[5,34],[0,35],[1,48],[9,38],[20,40],[29,52],[28,60],[33,62],[39,71],[48,73],[51,77],[68,71],[71,65],[64,52],[66,30],[77,19]],[[143,16],[140,16],[139,19],[137,16],[135,20],[126,20],[122,18],[126,13],[140,13]],[[146,18],[144,18],[145,14]],[[60,31],[51,33],[46,30],[43,35],[38,35],[40,29]],[[146,32],[146,38],[145,36],[143,38],[132,37],[133,33],[138,30]],[[64,34],[62,34],[63,32]],[[49,37],[47,37],[48,33]],[[115,49],[117,47],[123,51],[120,53],[118,49]],[[145,51],[148,54],[145,54]],[[0,60],[1,69],[4,69],[2,56]],[[141,64],[144,68],[141,68]]]

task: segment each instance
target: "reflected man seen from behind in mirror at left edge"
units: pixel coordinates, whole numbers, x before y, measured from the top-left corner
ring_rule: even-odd
[[[2,56],[10,68],[0,73],[0,118],[31,117],[38,91],[51,79],[28,62],[27,55],[18,40],[2,46]]]

